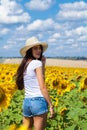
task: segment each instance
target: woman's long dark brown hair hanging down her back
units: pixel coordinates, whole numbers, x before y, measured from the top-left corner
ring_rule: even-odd
[[[41,55],[38,60],[42,59],[42,53],[43,53],[43,47],[41,45],[40,47],[41,47]],[[23,73],[28,65],[26,63],[29,59],[32,59],[32,60],[36,59],[32,54],[32,48],[26,51],[26,55],[23,58],[21,64],[19,65],[17,73],[16,73],[16,84],[19,90],[22,90],[24,88]]]

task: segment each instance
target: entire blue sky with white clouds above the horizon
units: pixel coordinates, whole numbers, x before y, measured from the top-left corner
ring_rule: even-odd
[[[87,57],[87,0],[0,0],[0,57],[20,57],[32,36],[47,57]]]

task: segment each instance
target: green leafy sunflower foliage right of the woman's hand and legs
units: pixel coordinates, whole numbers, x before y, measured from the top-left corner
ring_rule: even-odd
[[[55,118],[47,120],[46,130],[86,130],[87,129],[87,90],[79,91],[79,82],[74,81],[76,88],[58,95],[56,90],[49,91],[52,102],[58,98],[55,107]],[[49,114],[48,114],[49,115]]]

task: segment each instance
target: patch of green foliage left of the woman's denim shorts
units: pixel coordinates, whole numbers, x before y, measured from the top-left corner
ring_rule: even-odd
[[[22,122],[22,101],[24,92],[17,90],[11,100],[8,109],[0,113],[0,130],[6,130],[11,124],[19,126]]]

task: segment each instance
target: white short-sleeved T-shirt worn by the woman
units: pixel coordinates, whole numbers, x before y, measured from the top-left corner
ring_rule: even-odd
[[[43,97],[35,69],[42,66],[42,62],[39,60],[32,60],[24,72],[24,89],[25,98]]]

